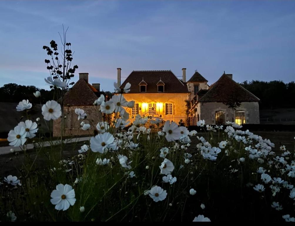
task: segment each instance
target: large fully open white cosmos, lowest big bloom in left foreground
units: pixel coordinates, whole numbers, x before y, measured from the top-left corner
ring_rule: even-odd
[[[70,205],[73,206],[76,202],[75,191],[71,185],[59,184],[56,186],[56,190],[51,192],[50,199],[51,203],[55,205],[57,210],[67,210]]]

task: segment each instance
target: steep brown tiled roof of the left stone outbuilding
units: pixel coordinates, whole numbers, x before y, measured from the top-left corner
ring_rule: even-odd
[[[93,105],[97,99],[98,92],[92,85],[84,79],[79,79],[73,87],[65,94],[65,106]]]

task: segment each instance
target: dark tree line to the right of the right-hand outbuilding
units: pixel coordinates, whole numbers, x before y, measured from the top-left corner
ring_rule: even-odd
[[[295,83],[245,81],[240,85],[260,99],[260,109],[295,108]]]

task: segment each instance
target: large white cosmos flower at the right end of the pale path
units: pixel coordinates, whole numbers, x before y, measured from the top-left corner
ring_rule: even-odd
[[[95,137],[90,138],[91,151],[104,153],[109,148],[114,149],[114,146],[116,146],[114,140],[114,136],[109,132],[97,134]]]

